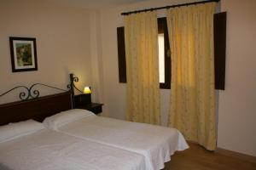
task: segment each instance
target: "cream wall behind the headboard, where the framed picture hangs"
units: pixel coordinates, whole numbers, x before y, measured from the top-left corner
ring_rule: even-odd
[[[80,77],[79,88],[91,85],[89,21],[86,10],[49,0],[1,0],[0,94],[35,82],[67,88],[71,72]],[[12,72],[9,37],[36,37],[38,71]],[[18,99],[15,94],[0,103]]]

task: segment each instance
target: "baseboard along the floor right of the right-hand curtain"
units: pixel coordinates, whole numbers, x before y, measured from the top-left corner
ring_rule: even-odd
[[[241,159],[243,161],[251,161],[256,163],[256,156],[249,156],[246,154],[241,154],[239,152],[236,151],[231,151],[231,150],[225,150],[222,148],[217,148],[217,150],[215,150],[216,153],[224,155],[224,156],[230,156],[230,157],[236,157],[238,159]]]

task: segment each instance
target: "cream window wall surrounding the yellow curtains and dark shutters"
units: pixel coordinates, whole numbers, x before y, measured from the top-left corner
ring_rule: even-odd
[[[141,8],[160,7],[189,1],[146,1],[102,10],[102,66],[105,112],[125,119],[125,84],[119,83],[116,28],[124,26],[120,13]],[[256,58],[254,0],[222,0],[228,12],[226,90],[220,91],[218,110],[218,147],[256,156]],[[165,15],[159,11],[159,15]],[[166,125],[170,90],[160,90],[161,121]]]

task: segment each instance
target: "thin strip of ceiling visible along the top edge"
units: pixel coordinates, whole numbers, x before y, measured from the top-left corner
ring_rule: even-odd
[[[108,8],[127,3],[136,3],[147,0],[54,0],[55,3],[64,3],[81,8]]]

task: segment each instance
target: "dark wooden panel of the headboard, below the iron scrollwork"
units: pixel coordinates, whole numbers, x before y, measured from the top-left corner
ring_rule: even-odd
[[[70,92],[4,104],[0,105],[0,126],[27,119],[43,122],[47,116],[70,109],[72,109]]]

